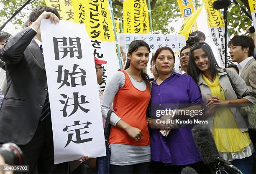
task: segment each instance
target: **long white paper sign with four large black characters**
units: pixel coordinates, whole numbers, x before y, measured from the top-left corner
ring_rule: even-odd
[[[91,40],[84,25],[41,22],[51,106],[54,163],[105,156]],[[40,78],[40,77],[38,77]]]

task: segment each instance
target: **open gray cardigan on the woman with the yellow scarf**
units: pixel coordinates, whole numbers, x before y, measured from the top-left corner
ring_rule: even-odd
[[[237,99],[236,93],[238,94],[238,96],[241,97],[243,95],[243,93],[250,91],[248,89],[248,87],[246,86],[246,83],[243,81],[243,79],[240,76],[238,76],[238,74],[236,73],[235,70],[233,70],[231,68],[227,68],[226,72],[223,69],[218,69],[218,70],[221,71],[220,73],[218,73],[219,83],[220,83],[220,86],[224,90],[226,100]],[[236,89],[236,93],[230,84],[228,76],[225,75],[226,73],[228,73],[228,75],[230,76],[230,78],[233,82],[233,85]],[[210,87],[203,80],[202,73],[200,73],[198,76],[197,84],[198,84],[201,94],[202,94],[202,100],[204,101],[204,103],[207,103],[208,98],[211,96],[211,91],[210,91]],[[256,104],[256,98],[253,96],[245,96],[243,98],[246,98],[248,101],[251,101],[251,103]],[[239,108],[238,107],[229,107],[229,108],[233,112],[233,114],[235,116],[235,120],[236,120],[240,130],[242,132],[248,131],[246,122],[244,121],[243,116],[241,116]],[[207,127],[209,129],[211,129],[211,131],[212,131],[213,118],[214,118],[214,114],[212,114],[211,116],[209,116],[206,119],[209,121],[209,124],[207,124]]]

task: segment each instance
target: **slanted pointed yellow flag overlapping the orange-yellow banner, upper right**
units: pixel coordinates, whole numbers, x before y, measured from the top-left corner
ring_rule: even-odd
[[[182,26],[179,30],[179,35],[184,35],[186,36],[186,40],[189,37],[189,33],[191,31],[191,28],[193,26],[193,24],[195,23],[195,21],[197,20],[197,17],[200,15],[202,8],[204,7],[204,5],[201,5],[200,8],[198,8],[197,10],[195,10],[194,13],[192,13],[191,16],[189,16],[189,18],[187,18],[183,23]]]

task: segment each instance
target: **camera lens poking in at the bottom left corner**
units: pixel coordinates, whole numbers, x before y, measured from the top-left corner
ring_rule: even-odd
[[[0,146],[0,155],[3,156],[5,163],[11,166],[23,164],[23,153],[14,143],[5,143]]]

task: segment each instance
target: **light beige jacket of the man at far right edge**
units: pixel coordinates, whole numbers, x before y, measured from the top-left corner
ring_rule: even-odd
[[[248,88],[256,93],[256,60],[254,58],[246,63],[240,76]]]

